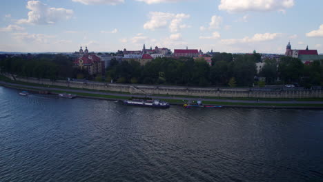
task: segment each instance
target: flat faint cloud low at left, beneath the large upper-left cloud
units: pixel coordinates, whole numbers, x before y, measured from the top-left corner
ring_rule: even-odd
[[[47,34],[28,34],[27,32],[23,33],[13,33],[14,39],[24,42],[35,42],[35,43],[48,43],[48,39],[54,38],[53,35]]]

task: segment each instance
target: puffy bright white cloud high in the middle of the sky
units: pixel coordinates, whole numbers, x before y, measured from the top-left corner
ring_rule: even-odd
[[[144,29],[155,30],[156,28],[165,28],[168,26],[170,32],[177,32],[182,28],[188,28],[186,24],[182,24],[183,19],[188,19],[189,14],[173,14],[168,12],[150,12],[149,21],[144,24]]]

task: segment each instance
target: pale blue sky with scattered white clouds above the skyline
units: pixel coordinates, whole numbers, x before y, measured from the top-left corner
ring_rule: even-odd
[[[323,53],[322,0],[1,0],[0,51]]]

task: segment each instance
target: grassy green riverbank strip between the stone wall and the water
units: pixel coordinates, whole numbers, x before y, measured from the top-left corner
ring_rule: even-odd
[[[72,88],[50,88],[40,85],[24,85],[22,83],[12,83],[6,81],[0,81],[0,85],[8,88],[16,88],[19,90],[29,90],[32,92],[39,92],[39,90],[48,90],[52,94],[60,94],[68,92],[71,94],[77,94],[78,97],[88,99],[104,99],[110,101],[123,101],[130,97],[145,97],[145,95],[139,94],[124,94],[124,93],[109,93],[98,92],[90,90],[79,90]],[[202,100],[204,104],[208,105],[222,105],[227,108],[289,108],[289,109],[323,109],[323,101],[268,101],[268,100],[234,100],[234,99],[209,99],[200,97],[166,97],[158,95],[150,95],[153,99],[161,99],[167,101],[172,105],[183,105],[187,101]]]

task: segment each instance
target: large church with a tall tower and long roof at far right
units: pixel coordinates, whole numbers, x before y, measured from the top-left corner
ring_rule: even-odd
[[[286,46],[285,56],[298,58],[303,63],[323,59],[323,56],[319,55],[317,50],[309,50],[309,46],[305,50],[292,50],[290,42]]]

